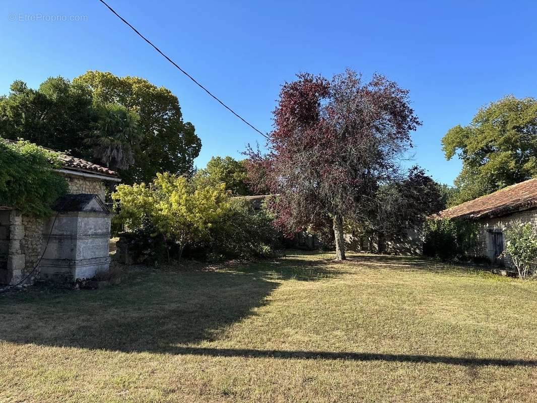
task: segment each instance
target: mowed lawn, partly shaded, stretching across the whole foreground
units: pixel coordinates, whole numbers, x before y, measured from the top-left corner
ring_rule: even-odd
[[[4,294],[0,401],[537,401],[537,282],[332,257]]]

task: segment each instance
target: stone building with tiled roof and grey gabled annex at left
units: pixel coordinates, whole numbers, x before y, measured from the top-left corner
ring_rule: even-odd
[[[108,168],[66,154],[60,161],[56,171],[71,194],[57,201],[53,217],[0,206],[0,284],[89,278],[110,265],[111,214],[104,199],[108,183],[120,179]]]

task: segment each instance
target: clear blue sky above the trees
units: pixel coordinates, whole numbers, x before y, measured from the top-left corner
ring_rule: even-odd
[[[535,1],[109,4],[262,131],[271,129],[280,85],[299,71],[387,75],[410,90],[423,121],[413,163],[441,182],[452,183],[461,167],[441,150],[449,128],[509,93],[537,96]],[[240,157],[246,143],[264,144],[97,0],[2,2],[0,37],[0,93],[16,79],[35,88],[90,69],[140,76],[178,96],[203,143],[198,167],[213,155]]]

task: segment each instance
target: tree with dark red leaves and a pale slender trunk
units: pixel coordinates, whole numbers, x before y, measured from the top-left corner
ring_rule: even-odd
[[[351,70],[332,81],[300,74],[283,85],[274,123],[269,154],[248,151],[249,177],[280,195],[271,209],[287,233],[329,215],[336,258],[344,259],[344,218],[369,220],[420,124],[408,91],[380,75],[364,83]]]

